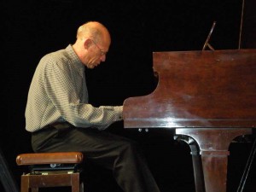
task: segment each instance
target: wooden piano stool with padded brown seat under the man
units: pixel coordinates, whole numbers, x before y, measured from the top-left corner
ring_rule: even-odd
[[[80,152],[19,154],[18,166],[29,166],[30,172],[21,176],[20,192],[38,192],[38,188],[71,186],[72,192],[83,192],[79,164]]]

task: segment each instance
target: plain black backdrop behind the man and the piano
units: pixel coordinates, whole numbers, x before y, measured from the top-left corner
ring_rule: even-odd
[[[0,5],[0,143],[18,185],[24,167],[16,166],[15,157],[32,152],[24,117],[32,74],[43,55],[73,44],[84,22],[98,20],[112,36],[107,61],[86,71],[90,102],[95,106],[122,105],[127,97],[151,93],[156,86],[152,52],[201,50],[213,21],[210,43],[214,49],[238,49],[239,45],[241,0],[30,0]],[[172,130],[140,133],[124,130],[122,124],[114,124],[109,131],[142,144],[162,191],[195,191],[189,146],[173,141]],[[250,148],[251,143],[230,145],[229,192],[236,191]],[[89,189],[119,191],[111,172],[94,166],[89,172]],[[256,191],[252,174],[244,191]]]

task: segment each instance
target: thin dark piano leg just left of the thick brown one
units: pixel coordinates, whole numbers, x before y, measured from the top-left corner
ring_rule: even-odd
[[[195,192],[205,192],[206,190],[201,166],[200,149],[198,148],[197,143],[193,138],[188,136],[174,136],[174,139],[189,144],[194,168]]]

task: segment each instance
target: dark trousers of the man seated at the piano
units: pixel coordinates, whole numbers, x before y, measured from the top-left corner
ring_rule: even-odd
[[[159,192],[137,143],[108,131],[74,126],[47,126],[32,133],[35,152],[80,151],[92,162],[113,171],[125,192]]]

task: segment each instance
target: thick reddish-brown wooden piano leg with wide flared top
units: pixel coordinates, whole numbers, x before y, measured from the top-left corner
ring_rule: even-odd
[[[198,143],[206,192],[226,192],[230,143],[235,137],[252,134],[252,128],[180,128],[176,134]]]

